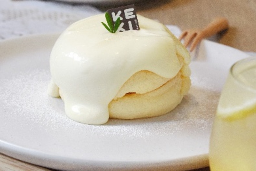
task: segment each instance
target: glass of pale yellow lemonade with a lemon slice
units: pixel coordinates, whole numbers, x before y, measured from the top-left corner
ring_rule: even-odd
[[[211,171],[256,171],[256,57],[232,66],[211,133]]]

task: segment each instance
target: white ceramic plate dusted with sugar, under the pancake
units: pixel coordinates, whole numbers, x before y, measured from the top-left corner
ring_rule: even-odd
[[[189,170],[208,165],[211,124],[228,68],[248,55],[203,41],[192,55],[192,87],[172,112],[84,125],[47,95],[58,35],[0,43],[0,152],[60,170]]]

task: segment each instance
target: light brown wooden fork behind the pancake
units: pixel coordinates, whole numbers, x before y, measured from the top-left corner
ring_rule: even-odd
[[[228,28],[228,21],[226,18],[224,17],[216,18],[202,30],[197,30],[197,29],[185,30],[179,36],[179,40],[184,39],[185,47],[187,47],[189,43],[192,42],[190,46],[190,52],[192,52],[202,39],[210,37],[227,28]]]

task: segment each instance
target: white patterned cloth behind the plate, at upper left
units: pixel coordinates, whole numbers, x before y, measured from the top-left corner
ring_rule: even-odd
[[[80,19],[101,13],[88,5],[50,1],[0,1],[0,40],[62,32]]]

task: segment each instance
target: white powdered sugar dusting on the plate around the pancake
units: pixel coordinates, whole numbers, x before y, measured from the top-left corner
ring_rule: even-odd
[[[192,86],[177,108],[166,115],[135,120],[110,119],[104,125],[86,125],[66,117],[63,101],[48,96],[49,80],[50,72],[45,69],[21,72],[0,80],[0,108],[6,117],[25,119],[27,124],[49,133],[79,130],[86,134],[126,137],[178,134],[184,129],[198,133],[210,129],[219,97],[217,91]]]

